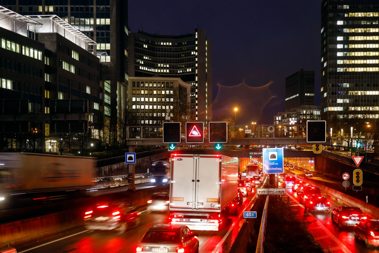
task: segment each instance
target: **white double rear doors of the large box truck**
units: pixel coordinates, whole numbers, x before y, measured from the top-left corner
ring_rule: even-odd
[[[221,157],[177,155],[172,160],[171,210],[219,209]]]

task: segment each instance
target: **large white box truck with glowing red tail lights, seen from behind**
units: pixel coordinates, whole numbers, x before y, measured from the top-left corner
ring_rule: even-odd
[[[238,160],[171,154],[169,219],[195,230],[219,230],[238,196]]]

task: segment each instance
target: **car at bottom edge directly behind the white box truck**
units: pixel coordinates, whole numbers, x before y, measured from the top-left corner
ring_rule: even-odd
[[[199,252],[199,234],[180,224],[158,224],[147,230],[136,252]]]

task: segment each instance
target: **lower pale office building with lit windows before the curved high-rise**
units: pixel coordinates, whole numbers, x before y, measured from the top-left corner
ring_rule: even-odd
[[[190,93],[191,85],[179,77],[129,77],[133,125],[162,125],[166,116],[184,125],[190,117]]]

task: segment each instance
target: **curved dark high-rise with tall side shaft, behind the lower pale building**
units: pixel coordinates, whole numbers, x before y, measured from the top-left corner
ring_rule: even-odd
[[[205,30],[192,34],[130,33],[128,73],[133,77],[179,77],[191,87],[191,119],[212,119],[212,44]]]

